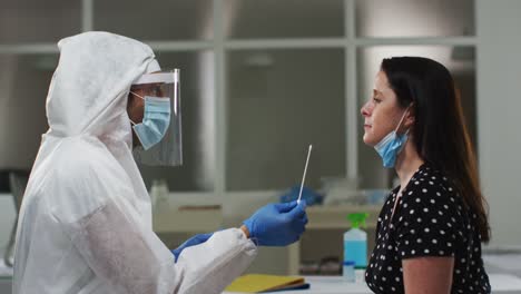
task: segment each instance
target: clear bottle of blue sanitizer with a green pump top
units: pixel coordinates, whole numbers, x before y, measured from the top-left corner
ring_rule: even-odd
[[[368,214],[350,214],[347,219],[352,228],[344,233],[344,263],[354,262],[355,268],[367,267],[367,233],[362,231]]]

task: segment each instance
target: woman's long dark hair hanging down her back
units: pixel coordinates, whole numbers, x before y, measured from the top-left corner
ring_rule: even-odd
[[[481,193],[475,153],[451,74],[443,65],[421,57],[384,59],[381,69],[400,106],[413,102],[411,131],[420,156],[454,179],[463,203],[478,216],[481,239],[489,242],[489,207]]]

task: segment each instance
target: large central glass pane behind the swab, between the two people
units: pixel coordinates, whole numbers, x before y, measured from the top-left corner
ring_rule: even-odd
[[[345,176],[344,50],[245,50],[227,56],[227,189]]]

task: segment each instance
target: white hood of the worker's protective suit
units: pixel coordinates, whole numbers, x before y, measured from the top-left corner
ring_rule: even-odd
[[[49,135],[91,135],[129,144],[127,95],[142,74],[159,70],[145,43],[108,32],[62,39],[47,98]]]

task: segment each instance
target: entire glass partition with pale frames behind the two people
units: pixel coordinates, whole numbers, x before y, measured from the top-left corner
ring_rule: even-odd
[[[475,144],[474,0],[6,0],[0,165],[32,165],[58,62],[49,45],[89,30],[147,42],[164,69],[181,70],[184,165],[140,166],[148,187],[163,178],[183,193],[285,189],[299,184],[309,144],[306,185],[391,187],[360,116],[386,56],[445,65]]]

